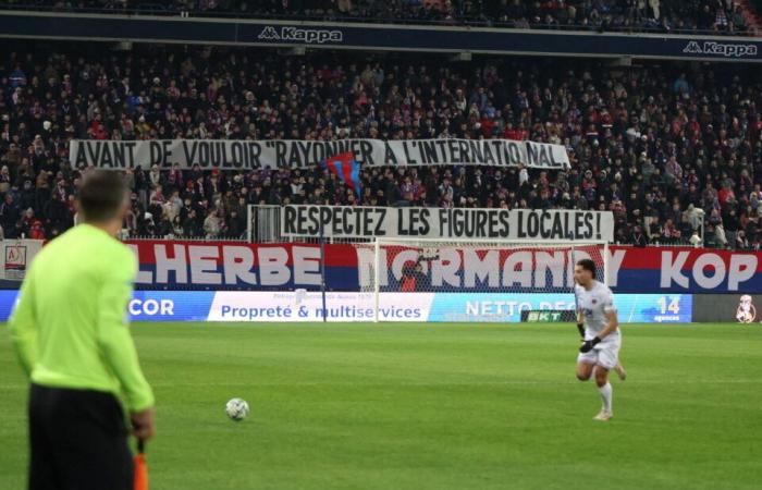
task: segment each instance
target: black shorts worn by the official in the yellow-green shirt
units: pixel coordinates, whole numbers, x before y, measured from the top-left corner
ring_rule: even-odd
[[[133,490],[124,413],[112,394],[33,384],[29,440],[30,490]]]

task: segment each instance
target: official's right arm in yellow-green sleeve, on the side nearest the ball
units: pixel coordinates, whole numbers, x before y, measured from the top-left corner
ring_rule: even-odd
[[[97,327],[97,340],[103,358],[119,379],[132,413],[153,406],[153,392],[140,370],[127,321],[127,304],[136,272],[137,260],[126,249],[124,257],[105,271],[98,298]]]

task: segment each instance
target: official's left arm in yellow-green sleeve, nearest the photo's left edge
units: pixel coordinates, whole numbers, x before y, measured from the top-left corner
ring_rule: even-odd
[[[27,378],[32,376],[32,370],[39,357],[37,343],[38,328],[35,318],[34,282],[34,266],[32,266],[21,286],[19,304],[9,323],[13,350]]]

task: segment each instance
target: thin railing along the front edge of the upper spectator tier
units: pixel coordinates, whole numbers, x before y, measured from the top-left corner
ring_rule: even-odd
[[[401,25],[430,25],[443,27],[495,27],[507,29],[539,29],[539,30],[588,30],[599,33],[652,33],[652,34],[685,34],[685,35],[711,35],[711,36],[753,36],[754,32],[750,27],[743,30],[724,32],[713,29],[677,29],[667,28],[662,25],[642,24],[638,26],[616,26],[607,24],[580,25],[580,24],[545,24],[531,23],[517,25],[517,22],[501,22],[488,20],[483,16],[462,16],[453,20],[417,19],[417,17],[374,17],[361,15],[346,15],[336,13],[307,14],[288,13],[272,14],[263,12],[235,12],[206,10],[200,7],[200,1],[196,8],[187,9],[180,5],[165,4],[160,2],[139,2],[138,5],[130,7],[122,4],[106,7],[78,7],[65,5],[57,7],[56,2],[26,1],[23,3],[0,3],[0,10],[8,11],[34,11],[34,12],[74,12],[82,14],[127,14],[127,15],[164,15],[164,16],[199,16],[218,19],[241,19],[241,20],[266,20],[266,21],[291,21],[291,22],[347,22],[364,24],[401,24]],[[623,13],[617,13],[624,16]]]

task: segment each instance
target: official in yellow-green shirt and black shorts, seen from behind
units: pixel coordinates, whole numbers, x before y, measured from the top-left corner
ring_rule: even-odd
[[[79,224],[34,259],[10,322],[29,392],[29,489],[132,490],[132,433],[153,434],[153,393],[126,316],[137,261],[115,235],[128,208],[119,172],[79,189]]]

